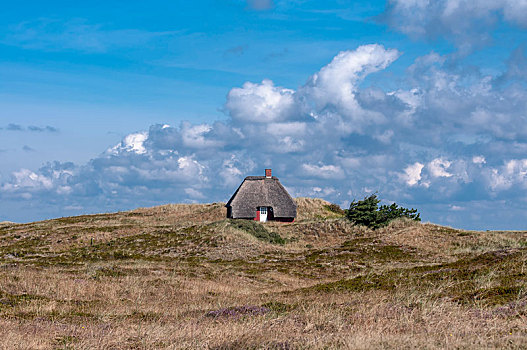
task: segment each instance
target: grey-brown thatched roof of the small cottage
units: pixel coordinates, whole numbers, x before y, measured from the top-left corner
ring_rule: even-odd
[[[258,207],[272,207],[275,218],[296,217],[293,198],[275,176],[247,176],[226,207],[234,219],[254,218]]]

